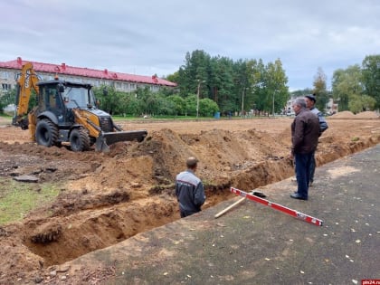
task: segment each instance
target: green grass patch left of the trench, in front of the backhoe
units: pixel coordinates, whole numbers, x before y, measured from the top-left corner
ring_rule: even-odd
[[[28,184],[1,177],[0,184],[0,225],[22,220],[60,193],[57,185]]]

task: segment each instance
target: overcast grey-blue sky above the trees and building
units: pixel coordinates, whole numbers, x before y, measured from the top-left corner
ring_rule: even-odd
[[[290,90],[380,54],[377,0],[0,0],[0,62],[139,75],[178,71],[185,53],[280,59]]]

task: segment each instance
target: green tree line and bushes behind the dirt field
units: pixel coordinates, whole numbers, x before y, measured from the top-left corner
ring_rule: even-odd
[[[138,88],[131,92],[113,86],[94,88],[100,109],[112,115],[196,116],[212,117],[215,112],[245,114],[255,110],[261,114],[280,113],[290,97],[315,93],[318,109],[324,110],[329,99],[339,111],[354,113],[380,108],[380,55],[368,55],[359,64],[334,71],[332,89],[327,90],[327,77],[318,68],[312,88],[290,93],[288,78],[280,59],[233,61],[223,56],[210,56],[196,50],[185,54],[178,71],[166,77],[177,83],[175,89],[153,92]],[[103,90],[108,90],[104,95]],[[15,90],[0,98],[0,108],[14,103]]]

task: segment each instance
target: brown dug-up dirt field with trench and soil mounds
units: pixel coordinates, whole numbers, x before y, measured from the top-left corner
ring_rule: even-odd
[[[36,191],[44,183],[60,189],[52,204],[20,223],[0,226],[0,284],[54,283],[54,276],[43,272],[178,219],[173,183],[186,157],[200,159],[204,208],[233,197],[231,185],[248,191],[293,176],[286,158],[291,121],[122,122],[124,129],[147,129],[148,137],[142,143],[118,143],[102,154],[37,146],[28,131],[0,118],[0,176],[33,176],[38,183],[30,187]],[[338,113],[328,125],[319,138],[318,166],[380,142],[375,113]],[[42,277],[30,280],[37,271]]]

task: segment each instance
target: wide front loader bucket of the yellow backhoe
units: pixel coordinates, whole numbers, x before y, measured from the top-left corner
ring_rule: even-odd
[[[109,152],[109,146],[119,141],[132,141],[137,140],[141,142],[147,137],[147,130],[138,129],[131,131],[116,131],[101,133],[95,143],[95,149],[97,151]]]

